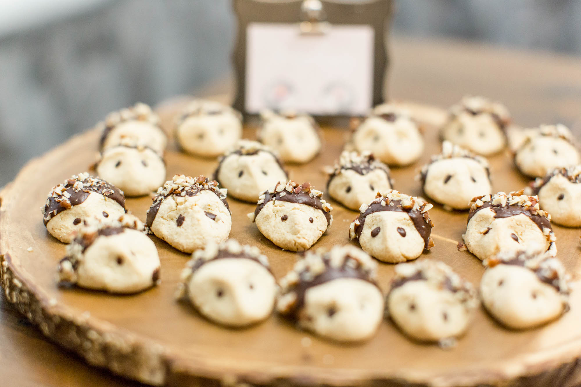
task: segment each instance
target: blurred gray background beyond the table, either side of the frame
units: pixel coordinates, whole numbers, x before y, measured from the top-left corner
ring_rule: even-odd
[[[112,110],[229,74],[234,30],[230,0],[0,0],[0,187]],[[392,31],[580,56],[581,1],[399,0]]]

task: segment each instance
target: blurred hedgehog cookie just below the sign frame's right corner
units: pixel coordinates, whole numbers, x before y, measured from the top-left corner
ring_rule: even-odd
[[[409,114],[389,105],[376,106],[353,133],[355,150],[370,151],[390,166],[414,163],[424,152],[424,139]]]

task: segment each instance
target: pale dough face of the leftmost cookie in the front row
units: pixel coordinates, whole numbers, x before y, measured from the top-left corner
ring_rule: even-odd
[[[99,236],[77,269],[77,285],[110,293],[136,293],[155,285],[160,261],[155,243],[141,231]]]

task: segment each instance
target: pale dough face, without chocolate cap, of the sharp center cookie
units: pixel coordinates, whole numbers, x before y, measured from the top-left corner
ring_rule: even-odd
[[[255,221],[266,238],[279,248],[290,251],[309,249],[328,226],[327,218],[320,209],[282,200],[266,203]]]

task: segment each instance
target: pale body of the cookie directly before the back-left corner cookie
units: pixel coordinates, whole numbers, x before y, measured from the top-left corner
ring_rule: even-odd
[[[147,195],[166,181],[166,165],[150,148],[109,148],[103,152],[96,172],[121,189],[125,196]]]

